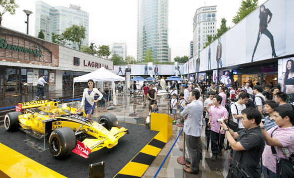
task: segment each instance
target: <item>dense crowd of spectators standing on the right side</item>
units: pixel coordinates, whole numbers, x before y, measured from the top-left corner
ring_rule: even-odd
[[[189,154],[185,172],[199,172],[204,121],[212,162],[222,156],[225,137],[231,146],[232,161],[227,178],[260,178],[261,173],[264,178],[276,178],[279,174],[276,160],[294,156],[294,105],[287,102],[288,95],[281,91],[280,85],[272,82],[267,85],[266,81],[263,85],[244,82],[240,87],[233,84],[228,88],[220,82],[183,82],[182,91],[176,85],[174,82],[170,86],[169,105],[173,122],[176,122],[175,103],[179,103],[179,124],[184,121]],[[229,120],[236,123],[237,130],[228,127]],[[276,155],[272,153],[273,148]]]

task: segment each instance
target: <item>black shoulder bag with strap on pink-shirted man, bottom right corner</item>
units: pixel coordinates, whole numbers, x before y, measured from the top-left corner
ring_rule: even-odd
[[[278,127],[275,129],[277,130]],[[273,133],[275,130],[272,132],[271,137],[273,138]],[[276,156],[276,177],[277,178],[294,178],[294,160],[291,158],[289,154],[289,150],[287,147],[280,147],[283,155],[286,158],[278,158],[277,151],[274,146],[271,147],[272,153],[274,156]],[[292,154],[293,156],[293,154]]]

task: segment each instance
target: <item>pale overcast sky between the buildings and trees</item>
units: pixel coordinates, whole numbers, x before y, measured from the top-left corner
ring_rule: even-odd
[[[23,9],[35,11],[35,1],[15,0],[19,5],[16,13],[6,12],[2,26],[26,33],[26,15]],[[89,21],[89,43],[109,45],[113,42],[126,41],[128,55],[137,58],[137,4],[138,0],[42,0],[51,6],[75,4],[87,11]],[[233,26],[232,18],[236,15],[242,0],[169,0],[168,44],[171,59],[175,56],[189,56],[189,43],[193,40],[193,17],[201,6],[217,5],[217,28],[221,18],[227,19],[227,26]],[[259,5],[267,0],[259,0]],[[205,4],[206,2],[206,4]],[[0,7],[2,11],[2,7]],[[34,13],[29,16],[29,34],[34,36]]]

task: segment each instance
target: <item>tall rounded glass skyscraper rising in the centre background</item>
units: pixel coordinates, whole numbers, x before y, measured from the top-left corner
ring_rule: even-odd
[[[148,49],[153,61],[168,62],[168,0],[138,0],[138,61]]]

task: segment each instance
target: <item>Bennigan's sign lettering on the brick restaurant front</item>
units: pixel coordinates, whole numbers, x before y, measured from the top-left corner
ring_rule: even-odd
[[[31,53],[35,57],[42,57],[42,51],[38,46],[34,45],[31,47],[34,47],[35,49],[8,44],[6,39],[0,38],[0,48],[2,48],[2,49],[10,49],[10,50],[14,50],[14,51]]]

